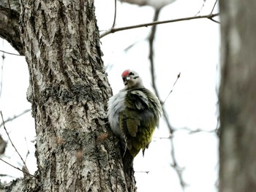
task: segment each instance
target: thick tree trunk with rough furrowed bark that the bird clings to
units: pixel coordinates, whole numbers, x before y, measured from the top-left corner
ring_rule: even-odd
[[[111,90],[93,1],[20,1],[19,23],[38,166],[23,191],[135,191],[106,118]]]

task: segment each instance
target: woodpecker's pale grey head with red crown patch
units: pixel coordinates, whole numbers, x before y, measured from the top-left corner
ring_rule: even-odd
[[[124,89],[144,87],[138,72],[135,72],[131,69],[127,69],[121,74],[121,77],[124,82]]]

